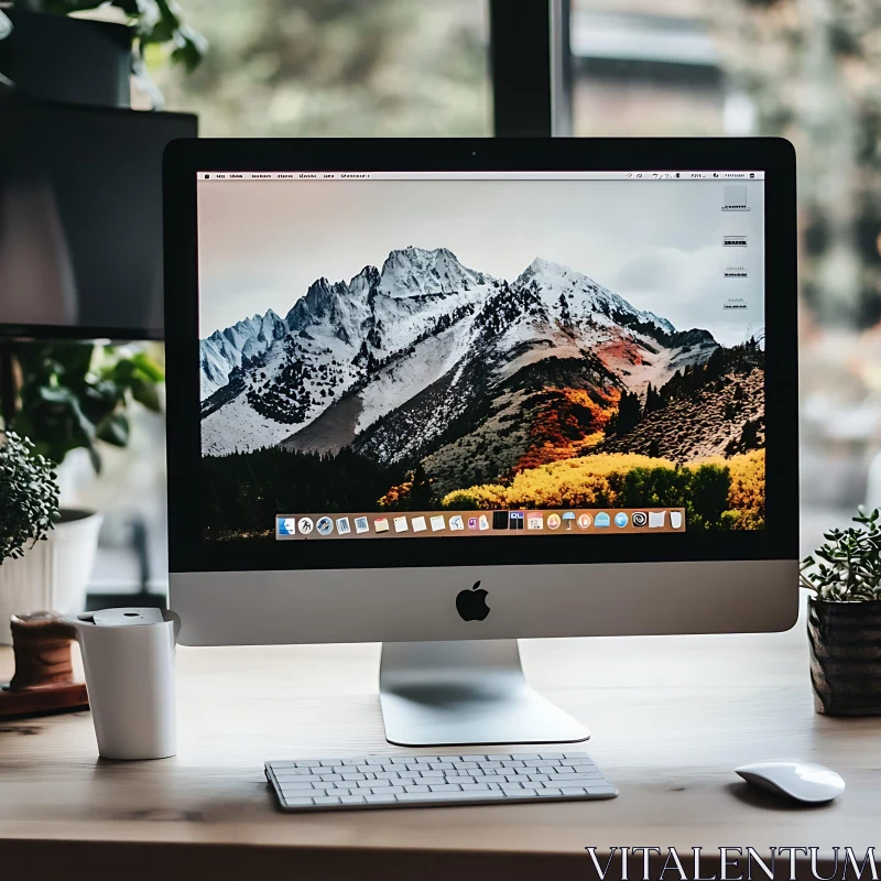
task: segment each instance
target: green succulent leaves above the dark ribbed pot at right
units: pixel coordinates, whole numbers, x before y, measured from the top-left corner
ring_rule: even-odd
[[[834,602],[861,602],[881,599],[881,511],[853,518],[859,526],[830,530],[813,556],[802,561],[802,587],[819,599]]]

